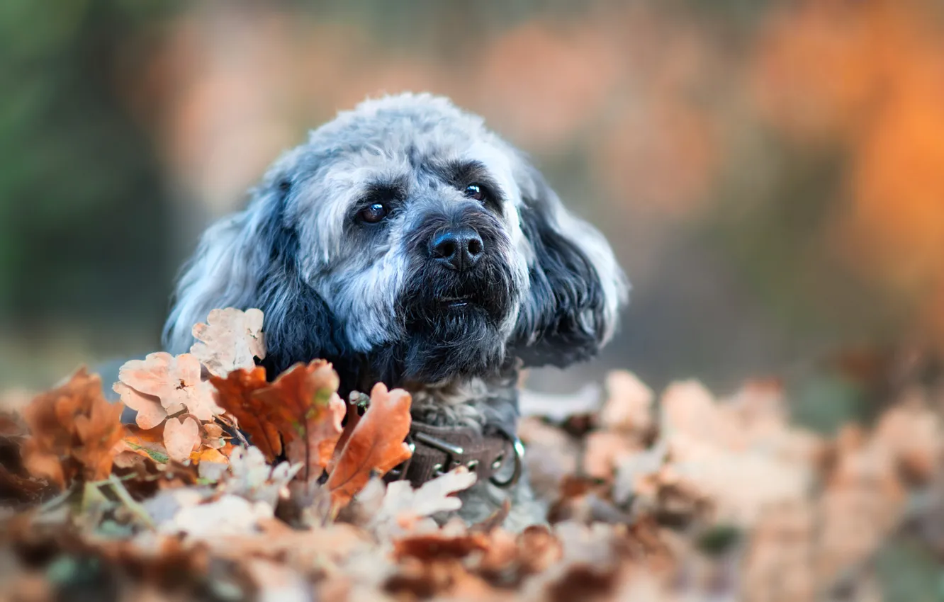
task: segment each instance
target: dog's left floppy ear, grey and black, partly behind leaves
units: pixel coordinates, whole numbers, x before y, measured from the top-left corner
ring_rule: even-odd
[[[270,176],[247,209],[204,232],[177,282],[163,333],[168,351],[187,351],[194,324],[205,322],[211,309],[259,308],[270,377],[295,361],[346,357],[341,329],[301,275],[297,234],[286,218],[291,193],[289,177]]]

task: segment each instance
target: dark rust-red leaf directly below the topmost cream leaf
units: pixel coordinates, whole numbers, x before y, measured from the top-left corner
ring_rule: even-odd
[[[272,409],[255,396],[269,386],[265,368],[234,370],[226,378],[211,376],[210,382],[216,388],[216,403],[236,418],[240,429],[259,447],[266,460],[275,461],[282,453],[282,440],[278,428],[268,418]]]

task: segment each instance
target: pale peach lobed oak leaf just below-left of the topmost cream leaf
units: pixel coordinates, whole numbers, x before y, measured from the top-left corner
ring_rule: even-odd
[[[154,423],[160,418],[160,410],[153,403],[144,404],[144,395],[160,400],[166,415],[186,409],[200,420],[210,421],[220,412],[211,387],[200,380],[200,360],[187,353],[177,357],[152,353],[144,360],[127,361],[119,370],[118,379],[125,387],[116,384],[114,391],[122,394],[129,407],[145,410],[144,424],[138,423],[142,428],[157,426]],[[127,388],[139,394],[129,393]]]

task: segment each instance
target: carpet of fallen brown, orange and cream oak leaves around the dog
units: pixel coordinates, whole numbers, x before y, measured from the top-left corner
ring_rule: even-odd
[[[465,525],[474,473],[380,478],[409,458],[410,394],[346,401],[323,360],[268,382],[261,318],[214,310],[191,353],[127,362],[135,424],[84,369],[8,404],[0,599],[872,600],[883,542],[944,509],[928,392],[825,438],[776,383],[657,401],[616,372],[605,395],[522,393],[547,522]]]

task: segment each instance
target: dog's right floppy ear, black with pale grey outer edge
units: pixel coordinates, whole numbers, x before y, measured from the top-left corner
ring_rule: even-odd
[[[536,169],[524,163],[520,174],[531,289],[510,346],[526,366],[564,367],[609,341],[629,286],[602,234],[565,209]]]

